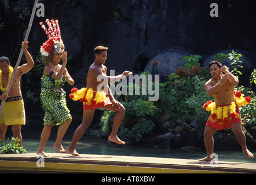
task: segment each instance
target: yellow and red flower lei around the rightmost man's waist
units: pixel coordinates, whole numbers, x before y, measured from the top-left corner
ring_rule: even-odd
[[[224,123],[228,121],[228,116],[235,118],[237,116],[236,114],[236,105],[238,107],[244,106],[246,104],[250,104],[251,97],[245,97],[242,92],[237,91],[235,92],[236,102],[231,102],[228,106],[216,106],[215,102],[213,101],[207,101],[204,103],[203,108],[207,111],[211,111],[211,118],[216,118],[217,121],[223,120]]]

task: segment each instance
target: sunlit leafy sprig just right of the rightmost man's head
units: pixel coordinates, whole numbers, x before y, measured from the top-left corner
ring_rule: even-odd
[[[243,62],[239,60],[240,57],[243,57],[242,54],[236,53],[235,51],[232,51],[232,53],[228,54],[228,58],[231,61],[231,66],[233,70],[231,73],[235,75],[238,79],[238,74],[242,75],[242,72],[238,70],[238,68],[243,68],[242,64]]]

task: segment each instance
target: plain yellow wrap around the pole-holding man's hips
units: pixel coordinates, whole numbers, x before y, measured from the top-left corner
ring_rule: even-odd
[[[23,99],[12,102],[5,102],[0,124],[5,125],[25,125],[25,109]]]

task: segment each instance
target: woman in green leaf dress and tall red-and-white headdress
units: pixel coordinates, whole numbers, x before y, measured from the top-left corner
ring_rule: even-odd
[[[64,86],[65,82],[74,85],[74,80],[65,68],[67,65],[67,52],[64,51],[64,44],[61,40],[58,22],[57,20],[46,20],[46,23],[48,24],[49,32],[41,23],[42,28],[47,31],[46,34],[49,37],[46,43],[41,46],[42,62],[45,64],[41,84],[41,103],[43,110],[45,110],[45,117],[43,118],[44,128],[41,134],[41,142],[36,152],[36,154],[43,157],[49,157],[49,155],[43,151],[43,148],[47,143],[53,125],[59,125],[56,142],[53,147],[60,153],[67,153],[61,145],[61,142],[71,124],[72,117],[66,105],[66,92],[61,87]],[[57,31],[53,31],[55,34],[51,34],[50,30],[54,30],[54,28]],[[58,64],[61,59],[63,61],[62,65]]]

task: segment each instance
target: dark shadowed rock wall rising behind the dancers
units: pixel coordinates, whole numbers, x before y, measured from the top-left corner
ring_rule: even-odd
[[[210,16],[210,4],[218,4],[218,17]],[[255,57],[255,1],[229,0],[108,0],[108,1],[42,1],[45,17],[35,17],[30,41],[31,53],[38,56],[46,35],[39,22],[58,19],[68,52],[68,70],[76,87],[84,87],[86,70],[94,60],[93,49],[109,47],[108,69],[116,74],[125,70],[139,73],[153,58],[162,60],[162,75],[182,65],[184,54],[200,54],[202,64],[209,56],[223,50],[243,50]],[[12,57],[14,66],[23,40],[34,1],[0,1],[0,56]],[[242,58],[241,58],[242,59]],[[175,65],[174,65],[175,63]],[[172,66],[168,71],[166,66]],[[250,60],[250,70],[256,67]],[[108,71],[109,71],[108,70]],[[150,71],[150,68],[149,68]],[[248,72],[249,73],[249,72]],[[28,90],[37,91],[40,79],[23,76],[23,95],[27,102],[27,118],[42,114],[39,99],[30,101]],[[28,80],[29,79],[29,80]],[[71,86],[64,90],[69,94]],[[81,104],[67,98],[72,115],[82,119]],[[38,109],[34,109],[38,107]],[[34,114],[31,114],[33,112]],[[31,117],[30,117],[31,116]],[[34,119],[34,118],[33,118]]]

